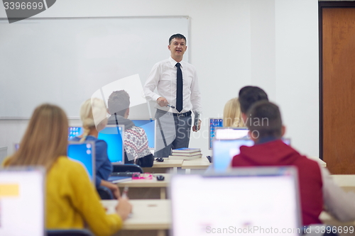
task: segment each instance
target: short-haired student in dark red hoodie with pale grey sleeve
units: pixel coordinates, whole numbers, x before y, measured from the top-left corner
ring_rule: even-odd
[[[342,191],[334,184],[327,169],[280,140],[285,126],[278,106],[258,101],[250,108],[247,117],[246,126],[255,145],[242,146],[240,154],[232,159],[232,167],[295,166],[303,225],[321,223],[318,217],[323,206],[338,220],[355,220],[355,194]]]

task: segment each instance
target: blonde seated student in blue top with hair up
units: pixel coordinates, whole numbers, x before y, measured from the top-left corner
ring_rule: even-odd
[[[97,139],[99,131],[103,130],[107,125],[107,111],[104,101],[101,99],[87,99],[87,101],[84,101],[80,108],[80,119],[82,120],[84,132],[71,140],[95,142],[96,187],[105,186],[114,193],[115,198],[119,198],[119,187],[107,181],[112,172],[112,164],[107,156],[107,142]]]

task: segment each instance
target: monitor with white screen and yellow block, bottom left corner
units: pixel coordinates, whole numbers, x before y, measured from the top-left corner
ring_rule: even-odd
[[[0,235],[46,235],[44,184],[44,169],[0,169]]]

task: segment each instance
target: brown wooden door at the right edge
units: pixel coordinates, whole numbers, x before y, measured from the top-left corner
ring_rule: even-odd
[[[332,174],[355,174],[355,8],[320,11],[321,153]]]

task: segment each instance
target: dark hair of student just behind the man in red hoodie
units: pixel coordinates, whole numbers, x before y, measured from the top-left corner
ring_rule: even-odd
[[[268,94],[257,86],[245,86],[239,91],[239,103],[241,103],[241,112],[244,114],[253,103],[263,100],[268,101]]]

